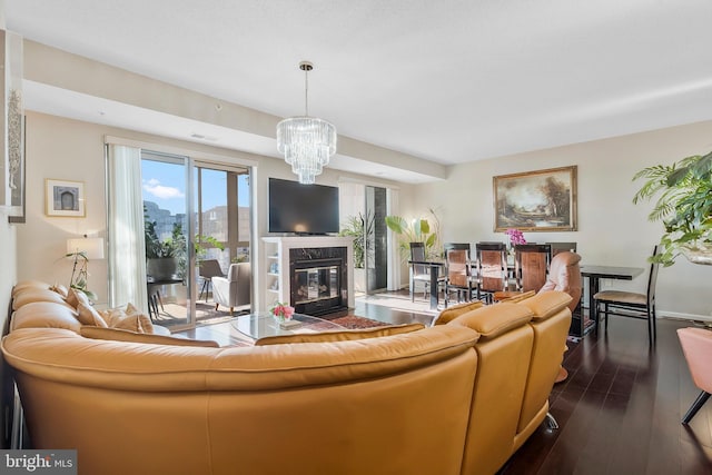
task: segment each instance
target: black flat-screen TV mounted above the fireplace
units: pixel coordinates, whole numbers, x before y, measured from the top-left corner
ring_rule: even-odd
[[[338,232],[338,188],[269,179],[269,232]]]

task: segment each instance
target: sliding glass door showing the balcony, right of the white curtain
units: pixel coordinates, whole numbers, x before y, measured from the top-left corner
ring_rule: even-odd
[[[250,260],[249,170],[144,150],[141,182],[151,318],[191,327],[228,317],[212,278]]]

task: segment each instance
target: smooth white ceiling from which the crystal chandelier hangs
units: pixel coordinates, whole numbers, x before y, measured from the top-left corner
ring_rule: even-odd
[[[7,28],[27,39],[279,117],[303,115],[297,65],[309,60],[310,115],[340,136],[443,165],[712,119],[709,0],[4,3]],[[61,95],[30,85],[26,103],[82,118],[77,101],[96,100]],[[135,108],[116,106],[112,125],[182,130],[178,118],[137,121]],[[100,121],[96,107],[82,119]],[[195,125],[182,126],[198,141]],[[273,138],[201,130],[276,156]],[[337,161],[423,180],[407,167]]]

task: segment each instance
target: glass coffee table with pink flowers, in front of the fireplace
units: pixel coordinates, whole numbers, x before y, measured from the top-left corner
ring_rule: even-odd
[[[241,315],[235,318],[231,325],[233,328],[253,339],[277,335],[334,331],[345,328],[324,318],[303,314],[294,314],[291,321],[291,324],[280,325],[280,321],[271,313],[258,311]]]

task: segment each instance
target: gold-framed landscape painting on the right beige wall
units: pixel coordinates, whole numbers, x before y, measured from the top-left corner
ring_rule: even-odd
[[[576,166],[494,177],[494,230],[576,230]]]

